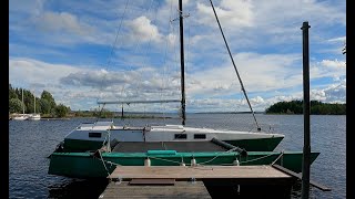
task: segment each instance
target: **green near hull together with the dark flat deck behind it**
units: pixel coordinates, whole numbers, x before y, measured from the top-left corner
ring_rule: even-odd
[[[320,153],[311,154],[312,163]],[[253,166],[280,165],[302,170],[302,151],[246,151],[219,139],[211,142],[130,143],[113,140],[93,151],[50,155],[49,174],[74,178],[105,178],[120,166]]]

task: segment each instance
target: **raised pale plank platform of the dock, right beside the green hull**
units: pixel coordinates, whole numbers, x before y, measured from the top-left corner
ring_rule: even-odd
[[[290,179],[290,175],[272,166],[118,166],[108,178],[194,179]]]

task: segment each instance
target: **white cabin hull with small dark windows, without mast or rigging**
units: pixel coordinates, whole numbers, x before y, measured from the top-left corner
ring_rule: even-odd
[[[64,143],[70,147],[97,143],[103,145],[106,140],[118,142],[206,142],[213,138],[240,145],[252,150],[273,150],[284,138],[282,134],[250,133],[236,130],[216,130],[212,128],[195,128],[181,125],[149,127],[114,127],[113,123],[85,124],[65,136]],[[253,145],[253,147],[251,147]],[[81,148],[82,146],[78,146]]]

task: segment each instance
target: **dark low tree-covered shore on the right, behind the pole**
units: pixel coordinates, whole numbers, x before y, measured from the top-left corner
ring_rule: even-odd
[[[303,101],[278,102],[265,109],[266,114],[303,114]],[[312,115],[346,115],[346,104],[311,101]]]

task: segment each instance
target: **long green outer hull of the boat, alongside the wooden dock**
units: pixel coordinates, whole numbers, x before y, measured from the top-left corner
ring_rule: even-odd
[[[240,157],[239,153],[176,153],[176,155],[146,155],[145,153],[103,153],[102,158],[106,161],[105,170],[101,159],[90,156],[89,153],[53,153],[49,167],[50,175],[68,176],[74,178],[105,178],[111,174],[115,164],[123,166],[143,166],[144,159],[150,157],[152,166],[178,166],[183,159],[186,165],[192,156],[197,164],[204,165],[232,165],[237,157],[241,165],[270,165],[281,153],[251,151],[247,157]],[[320,153],[311,153],[313,163]],[[286,151],[276,161],[290,170],[302,170],[302,151]]]

